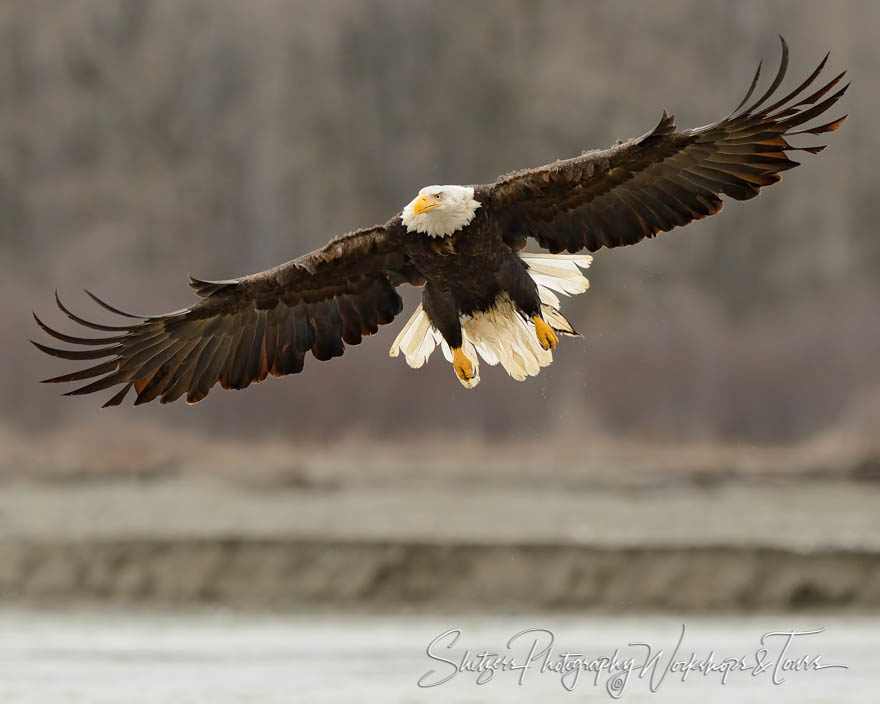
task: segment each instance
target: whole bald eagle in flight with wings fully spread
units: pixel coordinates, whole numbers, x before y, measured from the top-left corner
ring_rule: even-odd
[[[403,352],[410,366],[420,367],[439,345],[468,388],[479,382],[480,359],[500,363],[515,379],[533,376],[552,361],[559,335],[577,335],[557,294],[587,289],[581,269],[591,257],[579,252],[634,244],[714,215],[722,195],[753,198],[798,165],[788,157],[795,148],[787,136],[840,126],[845,115],[797,129],[834,105],[849,85],[832,93],[841,73],[812,88],[827,60],[826,54],[803,83],[777,98],[788,65],[783,39],[769,88],[748,104],[759,64],[746,96],[719,122],[679,131],[664,111],[653,130],[609,149],[516,171],[488,185],[423,188],[385,224],[343,235],[274,269],[226,281],[191,278],[199,300],[184,310],[133,315],[89,294],[125,319],[103,325],[75,315],[56,294],[74,322],[102,335],[68,335],[35,315],[48,335],[81,346],[34,342],[40,350],[97,362],[46,381],[94,379],[67,395],[121,386],[105,406],[120,404],[132,388],[135,404],[168,403],[184,394],[196,403],[217,382],[243,389],[269,374],[297,374],[308,352],[319,360],[342,355],[345,345],[359,344],[401,312],[401,284],[424,289],[391,356]],[[525,253],[529,238],[549,253]]]

